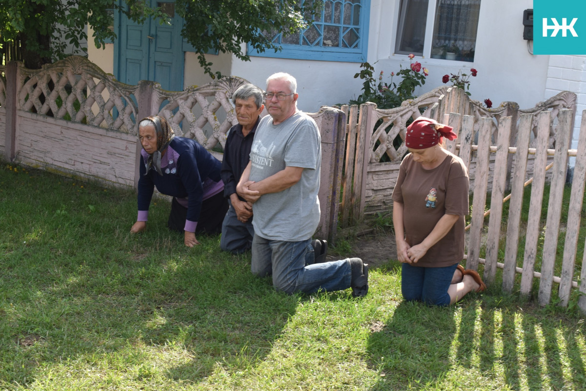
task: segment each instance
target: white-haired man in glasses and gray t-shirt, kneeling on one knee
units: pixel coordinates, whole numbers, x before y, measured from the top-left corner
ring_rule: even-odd
[[[368,266],[359,258],[306,265],[319,224],[321,137],[315,121],[297,110],[297,80],[287,73],[267,79],[268,114],[254,135],[250,162],[237,193],[253,203],[251,269],[272,275],[278,290],[368,291]]]

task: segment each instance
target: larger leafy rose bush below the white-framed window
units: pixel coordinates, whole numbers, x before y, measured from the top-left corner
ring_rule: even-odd
[[[354,78],[360,78],[364,80],[362,83],[362,94],[360,94],[355,100],[350,100],[349,104],[362,104],[366,102],[376,103],[378,108],[394,108],[401,106],[403,101],[415,98],[415,89],[425,84],[425,77],[428,74],[428,70],[421,69],[421,63],[413,63],[413,55],[409,55],[411,64],[409,68],[401,69],[397,72],[391,72],[391,80],[389,83],[383,83],[384,72],[381,71],[379,74],[379,80],[377,82],[374,79],[374,67],[376,64],[362,63],[359,73],[354,75]],[[393,81],[394,77],[400,78],[398,84]]]

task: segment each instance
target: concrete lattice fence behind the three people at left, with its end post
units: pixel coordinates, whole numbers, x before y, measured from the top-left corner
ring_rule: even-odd
[[[129,86],[84,57],[71,56],[40,70],[0,66],[0,147],[4,158],[62,175],[136,186],[137,121],[165,117],[179,136],[195,138],[222,159],[226,132],[237,123],[230,98],[246,80],[225,77],[185,91],[158,83]],[[333,240],[339,208],[345,114],[310,114],[322,135],[322,208],[318,234]]]

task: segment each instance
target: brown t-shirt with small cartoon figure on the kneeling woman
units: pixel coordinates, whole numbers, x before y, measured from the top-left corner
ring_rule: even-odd
[[[401,162],[393,201],[403,204],[407,243],[423,242],[445,214],[460,216],[449,232],[413,266],[444,267],[464,257],[464,216],[468,215],[468,170],[448,152],[434,169],[424,169],[408,154]]]

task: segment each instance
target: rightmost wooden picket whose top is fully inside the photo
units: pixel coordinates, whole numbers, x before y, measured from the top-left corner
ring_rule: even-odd
[[[554,156],[554,174],[551,178],[549,201],[547,205],[546,237],[543,242],[541,257],[541,278],[539,280],[539,297],[541,305],[547,305],[551,298],[551,284],[556,265],[557,240],[560,234],[561,204],[564,198],[565,175],[568,169],[568,147],[572,134],[573,110],[560,110],[556,129],[556,155]],[[547,148],[547,146],[546,146]]]

